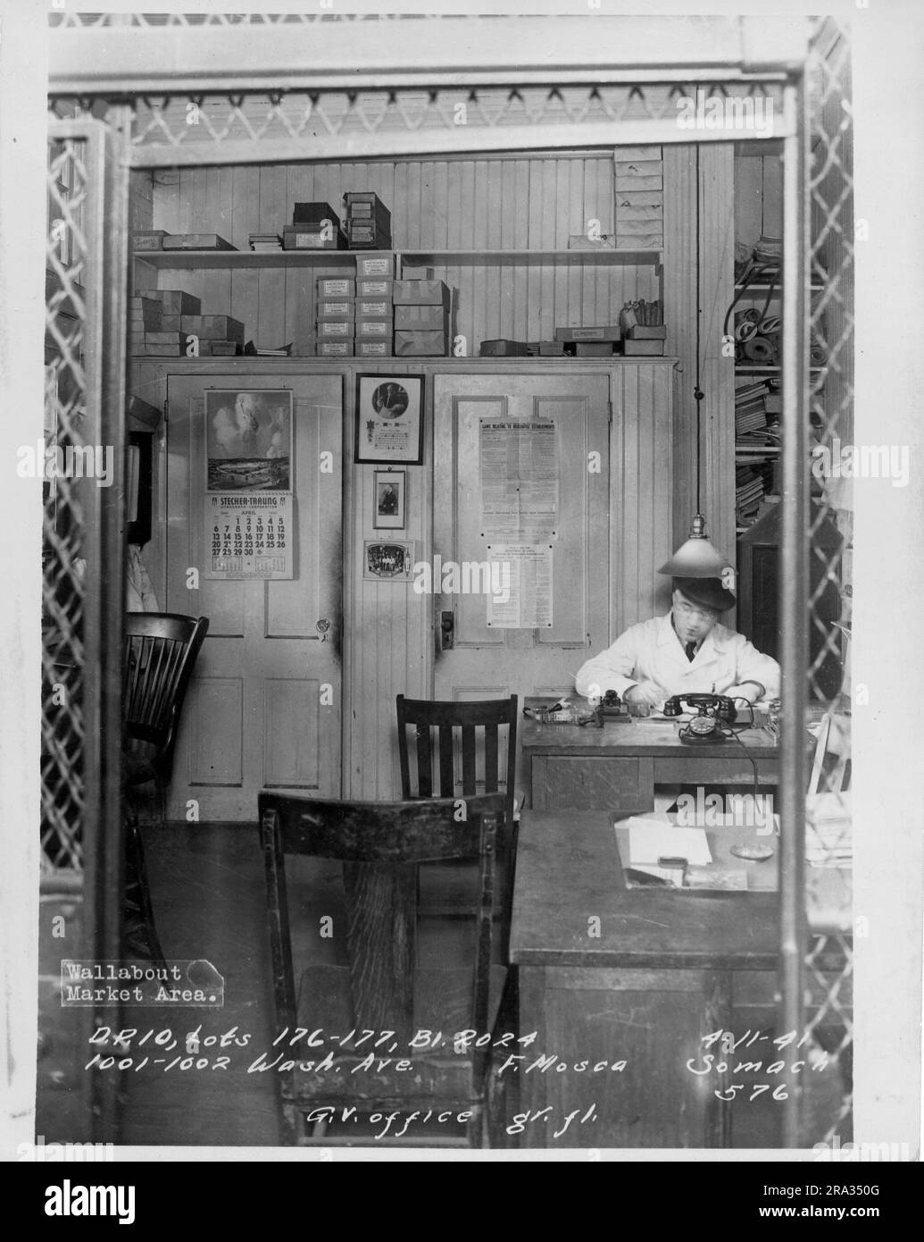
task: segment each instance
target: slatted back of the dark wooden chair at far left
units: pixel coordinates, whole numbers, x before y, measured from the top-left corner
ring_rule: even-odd
[[[123,728],[128,738],[156,748],[154,764],[165,781],[192,667],[207,632],[207,617],[125,614]]]

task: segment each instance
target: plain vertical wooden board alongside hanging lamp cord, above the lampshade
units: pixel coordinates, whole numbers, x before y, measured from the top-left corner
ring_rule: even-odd
[[[696,148],[664,148],[666,353],[678,359],[673,404],[673,542],[696,508]]]

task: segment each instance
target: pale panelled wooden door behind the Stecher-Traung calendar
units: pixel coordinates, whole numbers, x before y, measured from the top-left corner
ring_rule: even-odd
[[[291,580],[202,569],[206,389],[293,394]],[[341,753],[340,376],[167,379],[166,610],[208,617],[177,741],[167,816],[253,822],[262,789],[339,797]],[[190,590],[190,570],[198,589]],[[326,636],[320,622],[329,622]]]

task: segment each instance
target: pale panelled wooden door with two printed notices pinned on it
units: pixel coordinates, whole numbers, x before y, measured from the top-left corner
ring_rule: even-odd
[[[588,652],[606,646],[609,633],[609,378],[602,374],[460,374],[434,378],[434,553],[448,561],[484,563],[496,544],[496,524],[482,505],[484,428],[491,424],[554,427],[542,450],[544,472],[557,487],[540,483],[556,505],[554,523],[540,522],[523,544],[549,549],[551,625],[497,628],[489,625],[485,594],[439,591],[449,581],[434,574],[437,652],[434,697],[501,698],[573,691],[573,674]],[[521,433],[527,435],[527,433]],[[548,442],[548,433],[536,432]],[[521,438],[522,445],[522,438]],[[551,448],[551,453],[549,453]],[[597,456],[599,455],[599,456]],[[528,448],[523,457],[528,456]],[[549,456],[552,468],[549,469]],[[510,465],[511,477],[516,466]],[[521,468],[532,487],[535,462]],[[511,483],[511,494],[517,484]],[[553,529],[548,529],[553,525]],[[538,530],[546,529],[547,538]],[[528,530],[527,530],[528,534]],[[510,545],[521,540],[502,537]],[[465,585],[465,575],[461,575]],[[473,575],[469,575],[469,582]],[[502,582],[492,582],[501,585]],[[451,650],[442,628],[451,617]]]

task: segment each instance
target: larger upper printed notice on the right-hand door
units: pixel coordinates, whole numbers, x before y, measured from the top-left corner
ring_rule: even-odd
[[[540,543],[558,538],[554,422],[479,419],[481,534]]]

